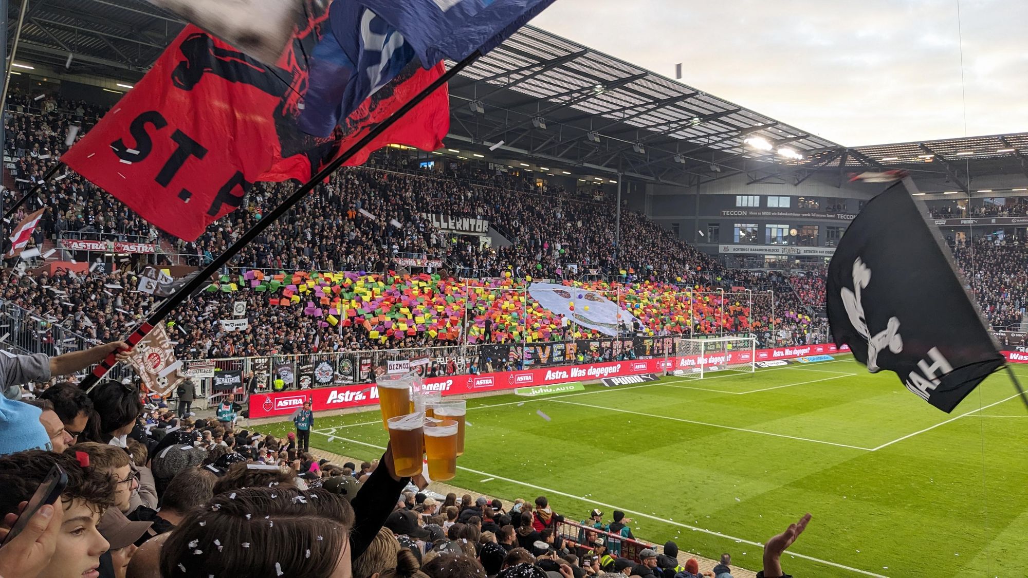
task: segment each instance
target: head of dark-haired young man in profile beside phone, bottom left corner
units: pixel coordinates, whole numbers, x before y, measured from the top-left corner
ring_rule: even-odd
[[[45,578],[97,578],[100,555],[109,544],[97,525],[104,509],[114,505],[114,480],[83,468],[71,456],[52,451],[21,451],[0,458],[0,519],[9,528],[20,508],[32,498],[54,465],[68,476],[68,485],[54,507],[47,507],[52,519],[61,520],[56,551],[38,576]],[[4,533],[6,536],[6,533]],[[6,548],[7,546],[4,546]]]

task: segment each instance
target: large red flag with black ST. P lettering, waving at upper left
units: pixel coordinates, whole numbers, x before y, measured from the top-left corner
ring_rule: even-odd
[[[327,139],[300,132],[304,55],[328,13],[294,31],[277,66],[254,61],[194,26],[62,160],[154,225],[188,241],[243,203],[256,181],[307,180],[372,125],[444,72],[408,67]],[[449,131],[449,97],[436,91],[348,165],[387,144],[433,150]]]

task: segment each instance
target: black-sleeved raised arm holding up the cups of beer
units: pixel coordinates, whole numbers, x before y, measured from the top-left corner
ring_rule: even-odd
[[[357,520],[350,533],[352,559],[359,558],[368,549],[386,523],[386,518],[393,513],[403,489],[410,481],[409,477],[399,477],[394,473],[392,444],[386,448],[379,464],[381,467],[371,472],[351,502]]]

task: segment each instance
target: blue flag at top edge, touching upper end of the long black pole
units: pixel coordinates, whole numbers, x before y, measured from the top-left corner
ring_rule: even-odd
[[[425,66],[495,48],[554,0],[359,0],[403,33]]]

